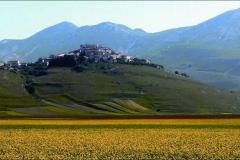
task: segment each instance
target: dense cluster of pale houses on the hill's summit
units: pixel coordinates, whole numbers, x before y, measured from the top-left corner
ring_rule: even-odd
[[[93,60],[95,62],[117,62],[118,60],[122,60],[127,63],[134,60],[134,57],[115,52],[108,47],[90,44],[81,45],[80,49],[59,54],[57,57],[63,57],[65,55],[83,56],[85,59]],[[151,63],[150,60],[146,59],[145,61],[146,63]]]

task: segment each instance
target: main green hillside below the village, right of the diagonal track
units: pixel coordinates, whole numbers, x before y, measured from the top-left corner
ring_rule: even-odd
[[[32,77],[36,95],[80,115],[240,112],[238,94],[161,69],[125,64],[102,68],[92,64],[80,73],[52,68],[48,75]]]

